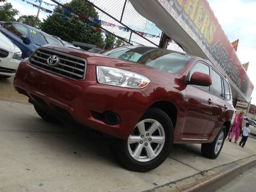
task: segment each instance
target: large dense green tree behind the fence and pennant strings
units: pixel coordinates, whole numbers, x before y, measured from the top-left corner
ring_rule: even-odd
[[[88,15],[98,19],[98,13],[93,7],[85,2],[84,0],[72,0],[70,3],[64,4],[66,7],[80,13],[87,15],[88,8],[90,8]],[[90,44],[103,44],[102,34],[95,31],[93,28],[85,26],[86,20],[78,18],[74,15],[67,14],[59,6],[54,8],[54,12],[68,16],[69,18],[78,20],[79,22],[69,20],[67,18],[62,18],[59,14],[52,14],[44,20],[41,24],[41,30],[44,32],[58,36],[63,40],[71,42],[72,40],[86,42]]]

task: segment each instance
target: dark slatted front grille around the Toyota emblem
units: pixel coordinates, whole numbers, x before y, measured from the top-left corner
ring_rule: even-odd
[[[57,66],[47,64],[48,57],[52,55],[56,55],[60,59]],[[28,64],[73,80],[84,80],[86,74],[86,60],[84,58],[44,47],[38,48],[30,56]]]

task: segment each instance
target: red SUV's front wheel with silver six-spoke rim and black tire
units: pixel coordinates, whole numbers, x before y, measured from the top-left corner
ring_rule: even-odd
[[[147,172],[166,160],[173,139],[174,130],[170,117],[159,108],[150,108],[128,139],[118,139],[110,145],[110,149],[125,168]]]

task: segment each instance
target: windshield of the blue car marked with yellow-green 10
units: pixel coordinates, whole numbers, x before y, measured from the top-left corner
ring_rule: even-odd
[[[46,45],[46,44],[54,44],[54,45],[63,46],[63,44],[59,40],[57,40],[56,38],[54,38],[48,34],[42,33],[38,30],[32,30],[32,31],[33,32],[30,34],[31,34],[32,41],[34,42],[34,44],[37,44],[39,46]]]

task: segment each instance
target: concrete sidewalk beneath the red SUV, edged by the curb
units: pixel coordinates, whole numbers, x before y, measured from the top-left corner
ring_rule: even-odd
[[[244,148],[226,139],[215,160],[200,144],[174,144],[160,167],[132,172],[117,164],[106,139],[46,123],[32,105],[0,100],[0,109],[1,192],[204,191],[256,164],[254,138]]]

